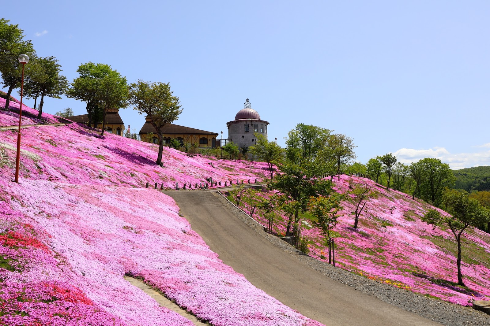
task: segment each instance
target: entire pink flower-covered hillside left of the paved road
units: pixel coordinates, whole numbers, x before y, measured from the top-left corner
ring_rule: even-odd
[[[50,119],[56,121],[44,120]],[[13,120],[15,113],[0,112],[0,125]],[[100,139],[76,124],[30,127],[23,129],[16,184],[14,138],[0,131],[0,325],[192,325],[124,275],[143,279],[211,325],[321,325],[223,264],[172,198],[144,187],[157,180],[172,186],[255,179],[265,171],[260,163],[166,149],[161,168],[152,165],[152,144]]]

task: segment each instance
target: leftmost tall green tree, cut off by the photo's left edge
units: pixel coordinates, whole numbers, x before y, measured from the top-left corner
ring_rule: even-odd
[[[19,55],[24,53],[33,58],[36,54],[31,41],[24,40],[24,31],[19,25],[8,22],[0,19],[0,73],[2,85],[8,89],[5,110],[8,110],[12,91],[21,86],[23,64],[19,62]]]

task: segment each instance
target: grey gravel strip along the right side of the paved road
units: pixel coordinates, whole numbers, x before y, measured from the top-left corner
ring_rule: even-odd
[[[447,326],[489,326],[490,316],[457,304],[434,300],[422,295],[402,290],[388,284],[363,278],[338,267],[303,254],[277,236],[264,231],[264,228],[218,193],[217,199],[250,229],[266,238],[278,248],[294,256],[303,264],[315,269],[330,279],[353,287],[355,290],[378,298],[386,303]]]

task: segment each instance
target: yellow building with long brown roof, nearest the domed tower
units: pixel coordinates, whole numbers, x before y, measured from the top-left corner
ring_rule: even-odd
[[[176,139],[180,141],[182,146],[185,143],[194,145],[197,142],[199,145],[198,147],[220,147],[220,140],[217,139],[218,134],[210,131],[179,126],[173,123],[166,124],[160,130],[162,131],[163,139],[167,144],[170,144],[172,139]],[[148,140],[148,137],[151,137],[151,140]],[[140,130],[140,138],[141,140],[151,141],[156,144],[159,142],[156,129],[151,125],[148,118]]]

